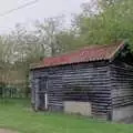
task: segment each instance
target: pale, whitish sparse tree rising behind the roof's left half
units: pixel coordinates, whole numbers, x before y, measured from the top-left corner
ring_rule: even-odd
[[[35,33],[39,38],[39,43],[51,57],[54,57],[60,52],[57,34],[62,30],[62,17],[57,17],[44,19],[43,23],[39,21],[35,23]]]

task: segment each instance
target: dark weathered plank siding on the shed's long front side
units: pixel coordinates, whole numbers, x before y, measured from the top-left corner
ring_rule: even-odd
[[[63,110],[63,101],[68,99],[66,92],[72,88],[82,88],[85,95],[79,99],[92,103],[94,116],[109,117],[111,113],[110,68],[108,62],[79,63],[31,71],[32,95],[35,96],[38,79],[48,76],[49,110]],[[88,93],[88,94],[86,94]],[[35,99],[32,98],[34,104]]]

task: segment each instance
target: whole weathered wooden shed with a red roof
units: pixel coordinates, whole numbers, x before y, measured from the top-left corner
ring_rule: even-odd
[[[45,58],[31,66],[30,81],[34,110],[133,116],[133,55],[125,42]]]

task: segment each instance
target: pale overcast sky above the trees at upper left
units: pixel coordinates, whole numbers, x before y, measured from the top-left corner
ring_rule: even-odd
[[[34,0],[0,0],[0,14]],[[39,0],[39,2],[20,9],[4,17],[0,17],[0,33],[13,29],[16,23],[31,23],[34,20],[42,21],[44,18],[65,14],[69,19],[71,13],[81,11],[81,3],[89,0]]]

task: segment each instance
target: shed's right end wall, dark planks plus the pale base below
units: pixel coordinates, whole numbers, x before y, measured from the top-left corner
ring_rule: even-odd
[[[111,64],[112,120],[133,117],[133,66],[122,61]]]

